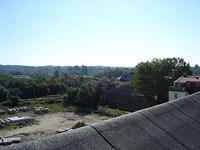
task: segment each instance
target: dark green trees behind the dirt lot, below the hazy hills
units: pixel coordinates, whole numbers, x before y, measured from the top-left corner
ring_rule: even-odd
[[[47,95],[65,94],[63,104],[95,108],[108,89],[118,86],[113,79],[83,76],[55,76],[49,80],[22,79],[9,74],[0,75],[0,101],[29,99]]]

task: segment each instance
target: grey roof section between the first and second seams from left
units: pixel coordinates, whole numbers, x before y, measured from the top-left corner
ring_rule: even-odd
[[[167,133],[139,113],[133,113],[92,125],[116,149],[184,150]]]

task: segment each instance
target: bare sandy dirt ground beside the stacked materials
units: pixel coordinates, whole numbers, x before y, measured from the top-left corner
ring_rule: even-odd
[[[17,116],[24,116],[19,114]],[[57,112],[48,113],[45,115],[26,114],[33,116],[35,120],[39,121],[37,124],[23,128],[0,131],[0,136],[21,137],[21,142],[35,140],[48,135],[57,134],[58,130],[69,130],[78,121],[83,121],[85,124],[93,124],[105,119],[105,117],[97,114],[74,113],[74,112]]]

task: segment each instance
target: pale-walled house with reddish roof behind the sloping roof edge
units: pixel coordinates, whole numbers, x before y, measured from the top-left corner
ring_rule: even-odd
[[[200,76],[182,76],[169,87],[169,101],[200,91]]]

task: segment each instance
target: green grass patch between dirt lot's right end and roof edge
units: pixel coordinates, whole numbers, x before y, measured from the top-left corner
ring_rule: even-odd
[[[113,108],[109,108],[107,106],[99,106],[95,112],[98,114],[101,114],[101,115],[109,116],[109,117],[118,117],[121,115],[128,114],[127,111],[113,109]]]

